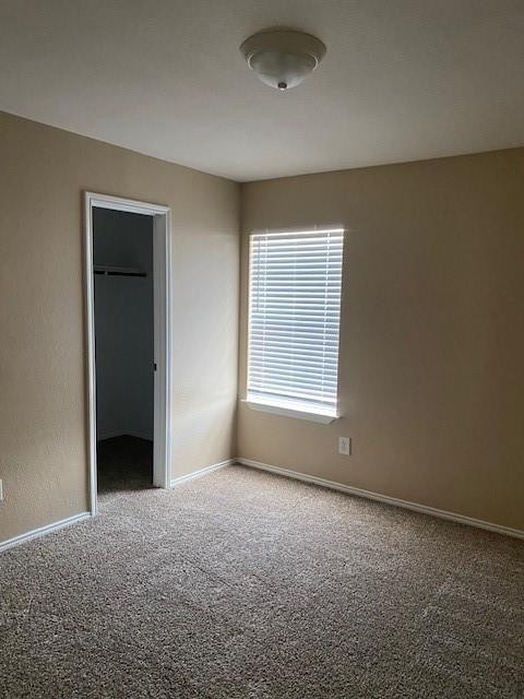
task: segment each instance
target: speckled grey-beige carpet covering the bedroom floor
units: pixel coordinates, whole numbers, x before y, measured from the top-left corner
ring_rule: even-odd
[[[230,466],[0,555],[0,696],[524,697],[524,544]]]

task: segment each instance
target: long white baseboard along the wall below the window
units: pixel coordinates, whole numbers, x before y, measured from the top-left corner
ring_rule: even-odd
[[[485,529],[489,532],[497,532],[498,534],[505,534],[507,536],[524,538],[524,531],[520,529],[511,529],[510,526],[485,522],[484,520],[477,520],[473,517],[466,517],[465,514],[456,514],[455,512],[448,512],[446,510],[438,510],[437,508],[429,507],[427,505],[419,505],[418,502],[410,502],[409,500],[401,500],[400,498],[393,498],[389,495],[381,495],[380,493],[373,493],[372,490],[364,490],[362,488],[344,485],[343,483],[326,481],[325,478],[299,473],[298,471],[282,469],[281,466],[271,466],[270,464],[252,461],[251,459],[238,458],[234,460],[234,463],[239,463],[242,466],[250,466],[252,469],[259,469],[261,471],[270,471],[271,473],[276,473],[281,476],[287,476],[288,478],[295,478],[296,481],[303,481],[305,483],[312,483],[324,488],[331,488],[332,490],[340,490],[341,493],[348,493],[349,495],[356,495],[360,498],[367,498],[368,500],[377,500],[378,502],[394,505],[407,510],[414,510],[415,512],[421,512],[422,514],[431,514],[432,517],[438,517],[451,522],[457,522],[458,524],[468,524],[469,526]]]

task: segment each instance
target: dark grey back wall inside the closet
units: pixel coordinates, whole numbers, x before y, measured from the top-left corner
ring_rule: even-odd
[[[95,264],[146,276],[95,274],[96,436],[153,439],[153,217],[95,209]]]

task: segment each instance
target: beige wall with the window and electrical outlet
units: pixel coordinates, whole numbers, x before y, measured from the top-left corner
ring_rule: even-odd
[[[524,529],[524,149],[253,182],[242,210],[241,396],[247,234],[348,233],[343,417],[240,405],[239,455]]]

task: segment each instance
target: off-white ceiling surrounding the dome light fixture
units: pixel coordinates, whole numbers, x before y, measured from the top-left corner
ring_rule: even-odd
[[[289,92],[238,50],[327,45]],[[524,144],[523,0],[2,0],[0,110],[246,181]]]

